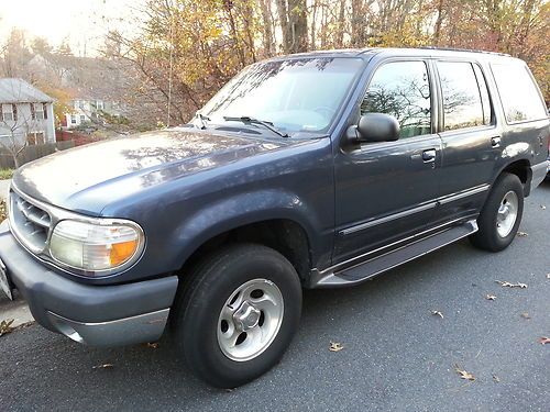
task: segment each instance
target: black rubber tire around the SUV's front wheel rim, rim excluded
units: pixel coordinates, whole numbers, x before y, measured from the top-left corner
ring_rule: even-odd
[[[301,285],[293,265],[278,252],[254,244],[226,247],[197,265],[176,299],[174,337],[190,369],[218,388],[235,388],[270,370],[286,352],[301,315]],[[273,342],[256,357],[235,361],[218,343],[220,313],[243,283],[266,279],[276,285],[284,313]]]

